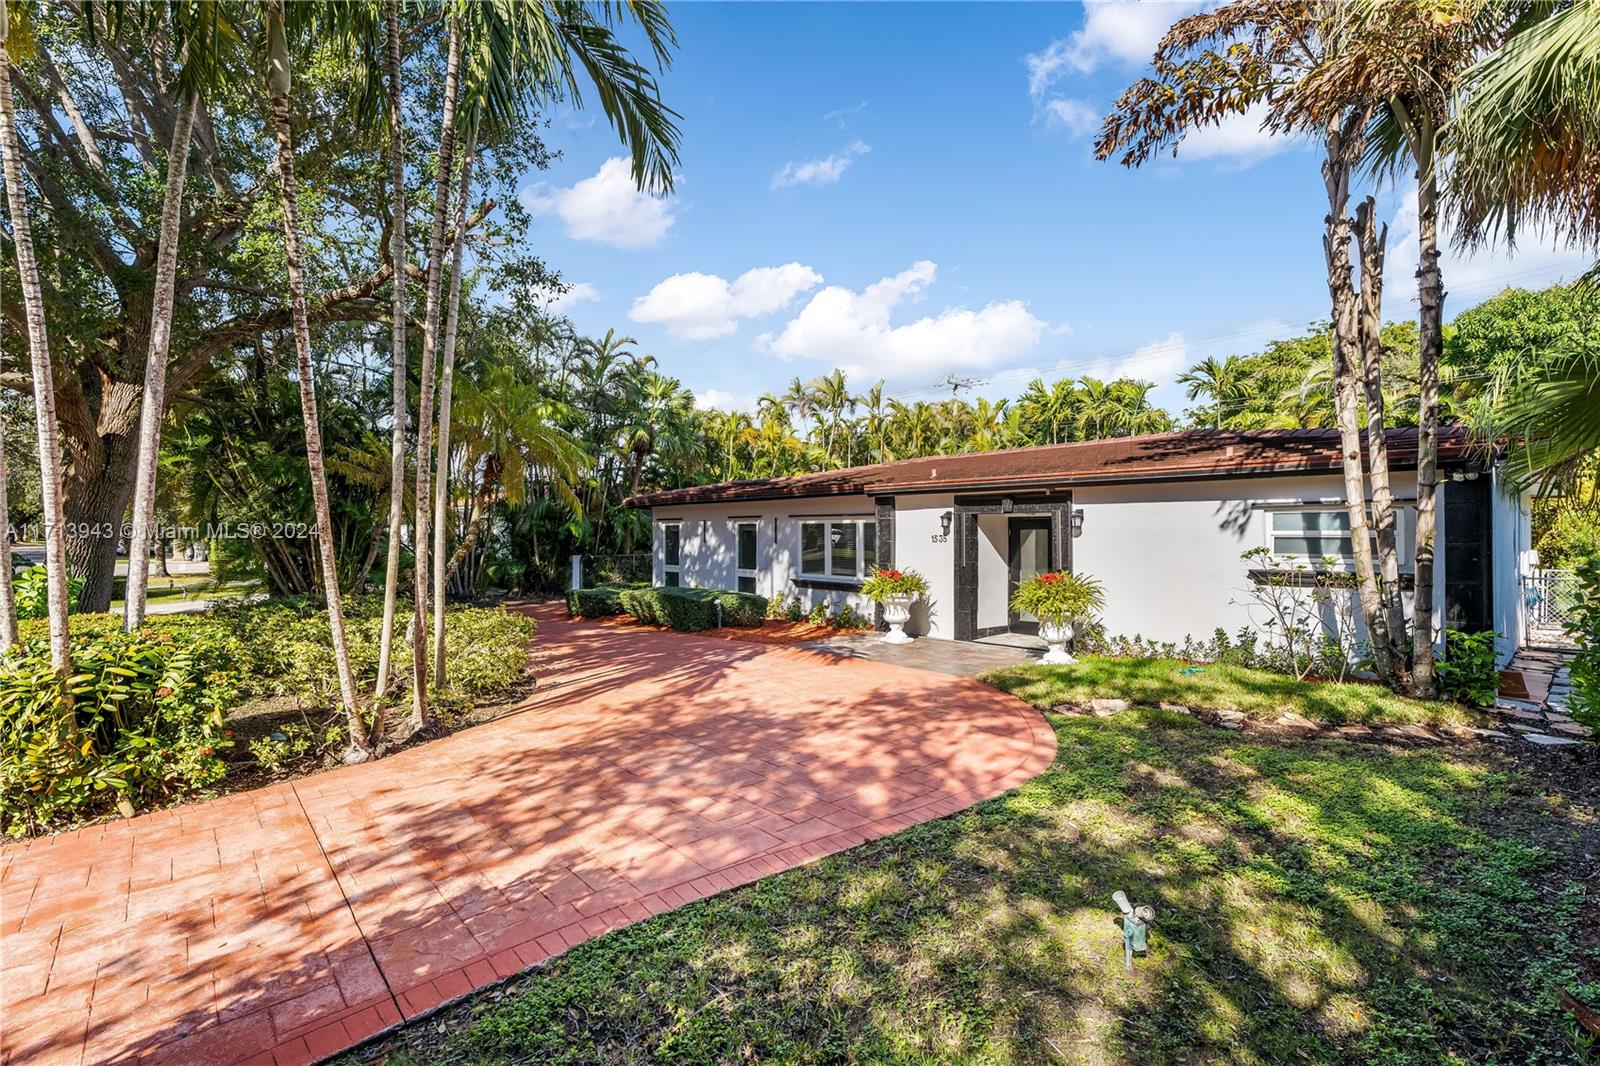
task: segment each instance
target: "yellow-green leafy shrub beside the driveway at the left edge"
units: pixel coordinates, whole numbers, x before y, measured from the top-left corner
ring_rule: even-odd
[[[208,626],[106,627],[74,642],[77,672],[58,680],[48,640],[14,648],[0,659],[0,828],[24,836],[218,783],[237,651]]]

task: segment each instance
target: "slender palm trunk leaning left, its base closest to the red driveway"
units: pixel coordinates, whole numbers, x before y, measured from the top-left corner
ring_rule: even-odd
[[[283,34],[283,0],[267,0],[267,93],[272,131],[278,142],[277,168],[283,195],[283,262],[290,283],[290,320],[294,333],[294,363],[299,373],[301,416],[306,419],[306,461],[310,466],[310,496],[317,509],[317,549],[322,587],[328,597],[328,631],[339,672],[339,703],[350,733],[347,762],[371,757],[373,741],[355,703],[355,674],[344,639],[344,600],[339,594],[339,567],[333,554],[333,512],[328,507],[328,475],[323,467],[322,429],[317,421],[317,386],[310,367],[310,322],[306,317],[306,275],[301,269],[299,205],[294,202],[294,139],[290,130],[290,51]]]

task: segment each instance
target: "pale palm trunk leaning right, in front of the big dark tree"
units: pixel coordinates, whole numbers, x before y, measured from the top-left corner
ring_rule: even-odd
[[[162,415],[166,411],[166,354],[173,339],[173,295],[178,288],[178,224],[184,210],[189,171],[189,134],[198,94],[179,101],[173,142],[166,154],[166,190],[162,198],[162,235],[155,253],[155,299],[150,309],[150,347],[144,363],[139,410],[139,459],[133,483],[133,531],[128,538],[128,591],[123,627],[144,624],[144,594],[150,583],[150,527],[155,523],[155,464],[162,451]]]

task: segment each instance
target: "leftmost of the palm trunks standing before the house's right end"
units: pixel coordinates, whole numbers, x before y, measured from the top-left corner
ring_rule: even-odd
[[[1328,295],[1333,298],[1333,381],[1334,415],[1339,426],[1339,448],[1344,466],[1344,501],[1350,520],[1350,554],[1360,591],[1362,616],[1373,645],[1373,666],[1387,680],[1389,632],[1378,578],[1373,568],[1373,546],[1366,522],[1366,477],[1362,466],[1362,431],[1357,424],[1357,375],[1360,359],[1360,307],[1350,282],[1350,171],[1362,157],[1360,131],[1365,115],[1352,115],[1328,125],[1328,158],[1322,165],[1328,189],[1328,216],[1323,219],[1323,256],[1328,264]]]

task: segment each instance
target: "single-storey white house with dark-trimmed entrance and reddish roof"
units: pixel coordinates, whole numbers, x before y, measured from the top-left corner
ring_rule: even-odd
[[[1416,515],[1416,432],[1387,434],[1403,581]],[[1526,501],[1499,491],[1491,456],[1459,429],[1438,447],[1435,618],[1522,643]],[[930,586],[907,631],[978,640],[1029,631],[1008,611],[1019,578],[1090,573],[1109,634],[1181,642],[1253,624],[1240,555],[1350,565],[1334,431],[1186,431],[1010,451],[930,456],[824,474],[635,496],[651,511],[654,583],[872,605],[874,565]],[[1414,592],[1413,592],[1414,594]],[[1410,599],[1411,594],[1408,594]],[[1435,634],[1437,637],[1437,634]]]

